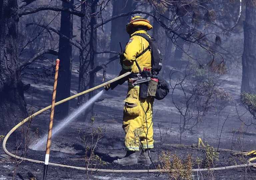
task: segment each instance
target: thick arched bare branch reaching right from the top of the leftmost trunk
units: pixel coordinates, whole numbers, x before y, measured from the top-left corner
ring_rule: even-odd
[[[81,11],[76,11],[70,8],[64,8],[62,6],[51,6],[51,5],[41,5],[41,6],[36,6],[36,7],[31,7],[31,8],[26,8],[26,9],[21,9],[18,11],[19,16],[24,16],[27,14],[33,14],[39,11],[45,11],[45,10],[52,10],[52,11],[65,11],[69,12],[71,14],[74,14],[76,16],[82,17],[84,16],[84,13]]]

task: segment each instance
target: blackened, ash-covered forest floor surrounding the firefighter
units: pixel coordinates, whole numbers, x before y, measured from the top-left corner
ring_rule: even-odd
[[[76,69],[77,64],[74,64]],[[101,84],[102,74],[97,74],[97,84]],[[115,75],[107,74],[107,79],[114,78]],[[77,80],[78,72],[72,72],[72,95],[77,93]],[[215,167],[244,164],[247,162],[248,157],[242,155],[235,155],[235,151],[248,151],[255,148],[255,128],[253,126],[245,126],[236,116],[235,103],[239,103],[240,82],[241,79],[232,77],[231,75],[223,75],[220,78],[221,87],[228,91],[235,100],[227,106],[221,113],[219,123],[219,133],[229,114],[229,119],[225,122],[222,129],[221,141],[219,145],[219,138],[217,136],[218,120],[215,116],[214,110],[207,114],[204,120],[204,131],[202,126],[198,125],[192,131],[187,131],[182,135],[182,145],[179,137],[179,120],[180,116],[172,104],[170,94],[162,101],[154,102],[154,139],[155,149],[152,152],[152,159],[156,163],[159,153],[162,151],[170,151],[171,154],[177,154],[181,159],[186,159],[188,154],[191,154],[193,160],[197,157],[204,158],[205,150],[198,149],[195,144],[198,142],[198,137],[213,147],[221,149],[232,149],[233,151],[220,150],[219,161],[216,162]],[[24,82],[31,83],[30,92],[26,94],[27,108],[37,111],[48,106],[51,102],[52,94],[52,81],[43,81],[40,83],[33,83],[34,79],[26,77]],[[171,80],[171,83],[174,83]],[[35,93],[31,93],[32,90]],[[100,89],[101,90],[101,89]],[[118,86],[113,91],[108,91],[103,94],[101,99],[94,105],[95,114],[95,127],[102,127],[105,133],[101,141],[98,143],[95,154],[103,160],[104,164],[99,164],[96,167],[102,169],[147,169],[143,165],[119,166],[112,163],[118,157],[121,158],[125,155],[123,150],[124,132],[122,130],[122,116],[124,98],[126,96],[127,85],[126,83]],[[99,92],[99,90],[97,91]],[[180,93],[180,94],[179,94]],[[177,97],[181,96],[181,91],[177,91]],[[76,100],[70,101],[70,111],[76,110]],[[245,110],[238,106],[238,110],[243,114]],[[49,111],[35,117],[32,121],[31,132],[38,131],[40,136],[43,136],[48,131],[49,124]],[[249,114],[243,115],[243,119],[249,119]],[[54,121],[57,125],[59,121]],[[72,123],[68,124],[59,134],[55,135],[52,140],[50,162],[60,163],[65,165],[85,166],[84,143],[80,140],[78,130],[84,135],[89,135],[91,125],[89,121],[84,121],[79,117]],[[161,136],[165,136],[165,129],[169,128],[163,145],[160,147]],[[160,130],[159,130],[160,129]],[[36,137],[33,137],[36,138]],[[35,139],[34,139],[35,140]],[[35,140],[36,141],[36,140]],[[15,153],[16,140],[15,135],[7,143],[7,149]],[[18,154],[22,153],[18,150]],[[44,160],[44,148],[39,151],[29,149],[26,157],[37,160]],[[14,170],[16,169],[16,176],[14,179],[41,179],[43,174],[43,165],[23,161],[18,166],[15,159],[9,158],[4,155],[4,151],[0,149],[0,179],[12,179]],[[94,167],[92,164],[90,167]],[[149,166],[150,169],[154,167]],[[194,164],[193,168],[197,168]],[[86,179],[86,172],[82,170],[75,170],[70,168],[61,168],[49,166],[48,179]],[[121,179],[168,179],[166,174],[162,173],[89,173],[90,179],[97,180],[121,180]],[[214,172],[203,172],[202,174],[193,173],[193,179],[256,179],[256,171],[254,168],[238,168],[231,170],[221,170]]]

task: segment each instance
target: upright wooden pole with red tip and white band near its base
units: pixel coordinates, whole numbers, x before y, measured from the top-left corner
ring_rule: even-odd
[[[54,117],[54,107],[55,107],[55,98],[56,98],[56,88],[57,88],[57,81],[58,81],[59,64],[60,64],[60,60],[56,59],[55,76],[54,76],[54,84],[53,84],[53,92],[52,92],[52,107],[51,107],[51,116],[50,116],[48,137],[47,137],[47,143],[46,143],[43,180],[46,180],[46,174],[47,174],[49,156],[50,156],[51,138],[52,138],[52,125],[53,125],[53,117]]]

